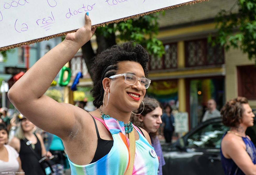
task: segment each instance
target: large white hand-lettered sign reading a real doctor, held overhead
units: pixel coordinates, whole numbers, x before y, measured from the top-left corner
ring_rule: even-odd
[[[205,0],[4,0],[0,1],[0,51],[75,31],[89,12],[102,26]]]

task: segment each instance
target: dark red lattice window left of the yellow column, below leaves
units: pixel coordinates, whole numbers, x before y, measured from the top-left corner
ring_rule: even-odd
[[[150,70],[177,68],[177,43],[165,44],[165,55],[162,57],[151,56]]]

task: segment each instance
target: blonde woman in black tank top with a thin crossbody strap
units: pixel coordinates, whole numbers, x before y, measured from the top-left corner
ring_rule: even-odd
[[[34,128],[35,125],[20,114],[19,125],[10,146],[20,154],[22,169],[26,175],[45,175],[38,161],[44,156],[50,157],[51,153],[46,152],[43,139],[40,134],[34,133]]]

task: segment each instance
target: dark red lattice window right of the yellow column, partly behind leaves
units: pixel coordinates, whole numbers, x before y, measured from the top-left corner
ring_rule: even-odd
[[[224,49],[214,47],[207,39],[185,41],[186,67],[218,65],[224,63]]]

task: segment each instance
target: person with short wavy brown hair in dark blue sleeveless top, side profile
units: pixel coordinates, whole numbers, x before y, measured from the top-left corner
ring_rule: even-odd
[[[245,97],[229,100],[221,109],[222,122],[230,127],[221,141],[221,163],[226,175],[256,173],[256,148],[245,134],[255,115]]]

